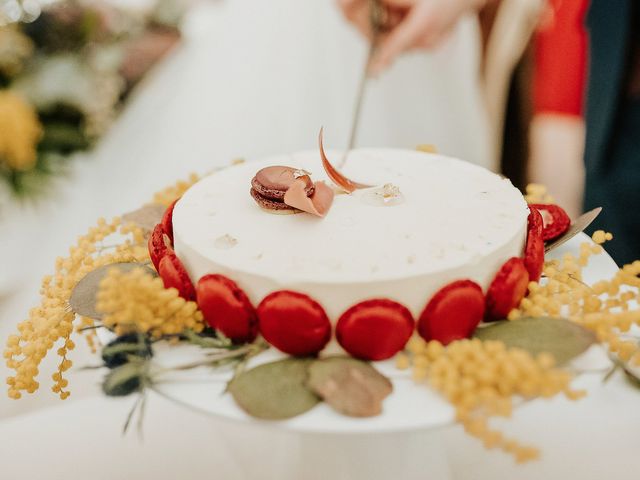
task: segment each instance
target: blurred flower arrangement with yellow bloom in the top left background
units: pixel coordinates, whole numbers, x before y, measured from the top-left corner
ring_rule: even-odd
[[[180,39],[178,0],[0,5],[0,189],[43,190],[109,129],[132,88]]]

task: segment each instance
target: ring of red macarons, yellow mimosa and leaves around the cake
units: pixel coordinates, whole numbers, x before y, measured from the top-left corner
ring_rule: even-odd
[[[537,458],[538,449],[506,438],[491,428],[490,418],[509,417],[521,400],[559,394],[581,398],[584,392],[571,387],[576,372],[568,363],[591,345],[602,344],[612,368],[623,368],[638,383],[633,368],[640,363],[640,348],[631,332],[640,325],[640,311],[633,309],[640,296],[640,261],[610,280],[584,283],[582,269],[612,238],[603,231],[585,242],[578,256],[545,261],[545,246],[581,228],[549,203],[542,187],[528,189],[524,257],[508,260],[486,294],[468,280],[443,287],[428,302],[417,328],[409,329],[397,346],[394,341],[393,348],[375,338],[359,342],[351,325],[364,310],[350,309],[343,315],[347,321],[341,324],[341,319],[336,327],[349,357],[318,356],[332,332],[316,332],[322,308],[305,295],[271,294],[254,309],[226,277],[207,275],[191,283],[173,251],[172,212],[198,179],[193,175],[168,187],[122,218],[100,219],[66,258],[57,260],[54,274],[42,282],[41,304],[7,340],[4,357],[15,371],[7,379],[11,398],[39,388],[39,364],[52,350],[60,362],[51,389],[61,399],[70,395],[65,375],[72,366],[74,332],[100,351],[106,395],[138,394],[125,428],[136,410],[142,415],[146,393],[165,381],[167,369],[154,361],[159,349],[191,345],[205,352],[202,360],[172,371],[231,367],[226,392],[247,413],[268,420],[303,414],[319,402],[344,415],[378,415],[393,386],[371,361],[395,357],[398,370],[410,370],[416,383],[453,405],[470,435],[525,462]],[[274,315],[282,302],[298,302],[317,335],[310,337],[305,330],[297,337],[295,329],[282,327],[286,316]],[[404,311],[390,303],[366,306],[382,311],[392,324],[407,321]],[[111,332],[104,345],[96,336],[99,328]],[[249,368],[251,359],[270,348],[289,356]]]

